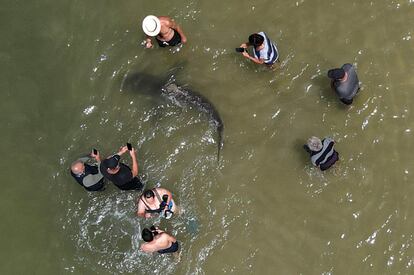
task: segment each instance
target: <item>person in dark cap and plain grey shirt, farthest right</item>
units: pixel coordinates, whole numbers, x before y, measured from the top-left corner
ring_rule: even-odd
[[[354,66],[347,63],[341,68],[328,71],[328,77],[331,79],[331,87],[342,103],[352,104],[353,98],[359,91],[359,80]]]

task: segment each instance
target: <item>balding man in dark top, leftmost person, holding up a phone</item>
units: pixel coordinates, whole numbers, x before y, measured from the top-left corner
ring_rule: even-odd
[[[95,159],[97,165],[86,163],[92,158]],[[104,188],[104,177],[98,169],[100,162],[98,150],[93,149],[89,156],[79,158],[72,163],[70,174],[87,191],[100,191]]]

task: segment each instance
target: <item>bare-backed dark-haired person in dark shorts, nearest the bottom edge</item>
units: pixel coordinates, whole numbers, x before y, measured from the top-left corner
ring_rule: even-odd
[[[141,245],[141,250],[146,253],[174,253],[180,248],[177,240],[173,236],[155,226],[151,226],[150,229],[144,228],[141,236],[145,241],[145,243]]]

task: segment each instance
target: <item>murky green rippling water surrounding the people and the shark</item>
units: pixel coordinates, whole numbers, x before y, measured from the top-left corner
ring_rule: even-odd
[[[147,14],[175,18],[188,44],[145,50]],[[413,1],[41,0],[0,15],[2,274],[414,272]],[[275,71],[234,53],[262,30],[278,43]],[[351,107],[325,77],[346,62],[362,82]],[[219,168],[205,116],[123,85],[143,72],[214,103]],[[311,166],[310,135],[337,141],[334,169]],[[71,179],[76,157],[128,140],[180,217],[142,221],[137,193]],[[180,259],[138,251],[152,222]]]

